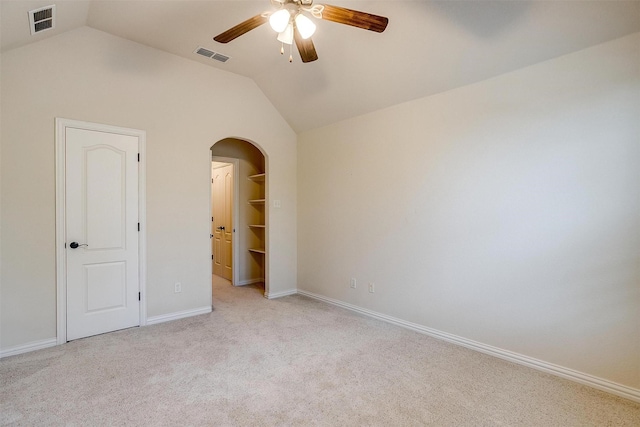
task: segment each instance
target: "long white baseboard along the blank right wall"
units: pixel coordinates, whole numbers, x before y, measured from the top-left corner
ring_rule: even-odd
[[[386,314],[378,313],[368,310],[366,308],[358,307],[357,305],[349,304],[343,301],[335,300],[325,297],[323,295],[314,294],[313,292],[303,291],[298,289],[300,295],[304,295],[310,298],[314,298],[320,301],[327,302],[329,304],[337,305],[342,308],[346,308],[351,311],[355,311],[364,314],[369,317],[373,317],[379,320],[383,320],[394,325],[401,326],[403,328],[411,329],[416,332],[420,332],[425,335],[432,336],[444,341],[448,341],[453,344],[460,345],[462,347],[470,348],[472,350],[479,351],[481,353],[489,354],[491,356],[499,357],[500,359],[508,360],[519,365],[528,366],[539,371],[544,371],[553,375],[557,375],[562,378],[566,378],[580,384],[588,385],[598,390],[603,390],[616,396],[624,397],[626,399],[640,402],[640,389],[628,387],[623,384],[618,384],[613,381],[609,381],[603,378],[598,378],[593,375],[585,374],[583,372],[575,371],[573,369],[565,368],[563,366],[554,365],[553,363],[544,362],[542,360],[534,359],[523,354],[514,353],[512,351],[503,350],[498,347],[483,344],[477,341],[473,341],[467,338],[463,338],[457,335],[442,332],[437,329],[428,328],[426,326],[418,325],[417,323],[407,322],[406,320],[398,319],[396,317],[387,316]]]

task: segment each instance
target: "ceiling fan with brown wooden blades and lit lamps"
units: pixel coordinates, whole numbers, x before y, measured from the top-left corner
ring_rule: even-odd
[[[213,39],[219,43],[229,43],[269,21],[271,27],[278,33],[278,41],[282,42],[281,54],[284,53],[284,45],[291,46],[295,40],[302,62],[312,62],[318,59],[316,48],[311,40],[316,25],[303,12],[307,12],[317,19],[351,25],[377,33],[383,32],[389,23],[389,19],[384,16],[328,4],[313,5],[313,0],[271,0],[271,3],[277,6],[278,10],[264,12],[249,18],[218,34]],[[292,60],[290,54],[289,62]]]

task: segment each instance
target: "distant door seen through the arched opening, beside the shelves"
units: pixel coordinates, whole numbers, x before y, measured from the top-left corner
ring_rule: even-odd
[[[213,169],[213,274],[233,275],[233,165]]]

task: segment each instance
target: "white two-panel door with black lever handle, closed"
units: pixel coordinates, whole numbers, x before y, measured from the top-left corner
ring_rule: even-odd
[[[67,340],[140,324],[138,137],[65,131]]]

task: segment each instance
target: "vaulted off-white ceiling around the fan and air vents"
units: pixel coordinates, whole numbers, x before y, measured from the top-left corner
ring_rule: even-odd
[[[389,18],[378,34],[316,21],[319,60],[279,54],[269,25],[213,37],[271,10],[269,0],[0,0],[5,52],[81,26],[252,78],[297,131],[443,92],[640,31],[640,1],[343,1]],[[322,3],[323,0],[317,0]],[[35,36],[27,12],[56,4],[56,28]],[[203,46],[231,56],[219,63]]]

